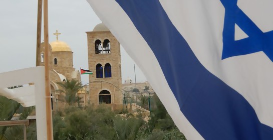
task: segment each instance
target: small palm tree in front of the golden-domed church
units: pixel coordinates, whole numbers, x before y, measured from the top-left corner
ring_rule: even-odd
[[[60,85],[63,90],[57,90],[57,92],[65,93],[65,101],[68,103],[68,105],[72,105],[76,101],[78,101],[77,93],[82,88],[82,83],[76,80],[66,80],[64,82],[58,82],[58,85]]]

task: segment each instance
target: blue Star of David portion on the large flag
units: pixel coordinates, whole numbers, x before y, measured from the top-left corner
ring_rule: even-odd
[[[263,51],[273,62],[273,31],[262,32],[237,6],[237,0],[220,0],[225,7],[222,59]],[[234,40],[235,23],[248,35]]]

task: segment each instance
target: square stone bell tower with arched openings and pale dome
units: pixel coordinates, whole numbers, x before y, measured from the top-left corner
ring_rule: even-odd
[[[86,33],[88,65],[93,72],[89,75],[89,100],[95,106],[106,103],[119,109],[123,103],[120,44],[103,23]]]

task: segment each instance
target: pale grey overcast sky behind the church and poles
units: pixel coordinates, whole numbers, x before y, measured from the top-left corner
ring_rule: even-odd
[[[0,0],[0,73],[36,65],[38,0]],[[103,7],[102,7],[103,8]],[[74,68],[88,69],[86,31],[101,23],[86,0],[49,0],[49,42],[58,29],[60,41],[74,52]],[[42,40],[43,40],[42,24]],[[122,45],[122,44],[121,44]],[[121,47],[122,83],[128,77],[135,81],[135,62]],[[146,81],[136,65],[137,82]],[[83,84],[88,76],[82,75]]]

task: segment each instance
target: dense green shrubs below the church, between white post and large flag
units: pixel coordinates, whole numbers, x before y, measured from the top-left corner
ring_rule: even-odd
[[[105,104],[96,109],[87,106],[85,111],[70,106],[64,119],[58,114],[53,118],[54,140],[186,140],[167,112],[158,111],[164,109],[158,105],[154,109],[158,113],[154,112],[148,123],[141,114],[121,117],[117,115],[121,111],[115,114]]]

